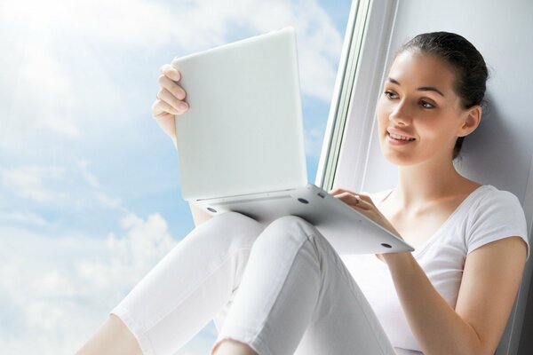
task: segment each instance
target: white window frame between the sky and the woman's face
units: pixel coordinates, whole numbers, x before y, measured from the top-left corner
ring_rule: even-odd
[[[362,188],[396,10],[396,0],[354,0],[350,8],[315,179],[326,191]]]

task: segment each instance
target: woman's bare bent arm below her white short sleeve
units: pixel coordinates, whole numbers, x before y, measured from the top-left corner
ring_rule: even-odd
[[[526,255],[526,244],[519,237],[474,250],[466,257],[455,310],[410,253],[382,256],[425,354],[493,355],[520,286]]]

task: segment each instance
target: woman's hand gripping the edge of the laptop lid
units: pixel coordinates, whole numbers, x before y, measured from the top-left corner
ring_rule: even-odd
[[[161,75],[157,79],[160,90],[157,92],[157,99],[152,105],[152,116],[161,129],[169,135],[177,145],[176,138],[176,114],[185,114],[188,104],[185,102],[186,92],[178,85],[181,75],[179,71],[170,64],[165,64],[159,69]]]

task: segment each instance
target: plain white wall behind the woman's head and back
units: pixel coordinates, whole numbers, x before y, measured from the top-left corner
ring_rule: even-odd
[[[533,153],[532,19],[533,1],[529,0],[400,0],[391,38],[394,49],[418,33],[443,30],[465,36],[481,51],[491,75],[489,106],[479,130],[465,140],[459,170],[481,183],[515,193],[529,209],[526,210],[529,224],[533,211],[531,203],[525,202]],[[386,67],[393,54],[394,50]],[[395,178],[394,167],[379,152],[374,131],[362,191],[392,187]],[[529,191],[533,198],[530,193],[533,190]],[[529,286],[529,282],[522,287],[525,285]],[[523,309],[519,308],[517,314],[520,312],[523,314]],[[521,324],[521,319],[518,320]],[[509,336],[510,330],[505,336]],[[515,328],[514,335],[520,334],[520,329],[516,331]],[[517,347],[518,342],[513,341],[508,353],[515,354]],[[500,349],[499,353],[507,351]]]

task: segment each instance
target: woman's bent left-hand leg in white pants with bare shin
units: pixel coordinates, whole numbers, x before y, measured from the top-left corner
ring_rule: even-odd
[[[177,351],[228,304],[263,229],[233,212],[199,225],[131,290],[78,353]]]

